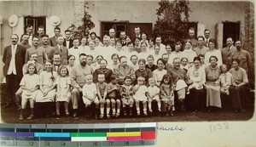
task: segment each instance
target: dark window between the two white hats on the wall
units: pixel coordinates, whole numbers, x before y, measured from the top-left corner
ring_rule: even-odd
[[[33,34],[38,36],[38,27],[44,26],[44,31],[46,31],[46,16],[25,16],[24,17],[24,32],[26,32],[26,26],[32,25],[33,26]],[[46,34],[46,32],[44,32]]]

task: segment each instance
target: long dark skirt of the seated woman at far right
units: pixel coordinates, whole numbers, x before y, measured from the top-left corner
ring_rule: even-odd
[[[249,99],[250,88],[248,85],[243,85],[236,88],[235,86],[230,86],[230,101],[231,105],[235,109],[241,109],[247,106],[247,101]]]

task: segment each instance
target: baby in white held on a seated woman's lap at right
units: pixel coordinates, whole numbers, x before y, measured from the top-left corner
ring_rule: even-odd
[[[197,70],[193,71],[193,76],[190,78],[190,80],[192,81],[192,84],[189,85],[187,94],[190,93],[190,90],[192,88],[195,88],[197,90],[203,88],[202,78],[201,76],[199,76],[199,71]]]

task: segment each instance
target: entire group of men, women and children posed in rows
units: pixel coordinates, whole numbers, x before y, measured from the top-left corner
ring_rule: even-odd
[[[11,35],[3,51],[3,109],[17,106],[17,120],[37,118],[38,105],[43,117],[113,119],[242,113],[250,102],[252,59],[241,40],[228,37],[227,47],[216,48],[207,29],[195,38],[189,28],[188,38],[163,44],[139,27],[132,37],[110,29],[103,38],[90,32],[81,39],[59,27],[49,37],[39,26],[35,36],[32,27]]]

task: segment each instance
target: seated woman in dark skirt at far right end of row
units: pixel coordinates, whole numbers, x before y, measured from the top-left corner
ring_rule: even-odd
[[[250,93],[247,72],[239,64],[239,59],[233,59],[233,67],[230,69],[233,76],[232,85],[230,86],[230,100],[236,113],[241,112],[242,107],[246,107],[248,94]]]

